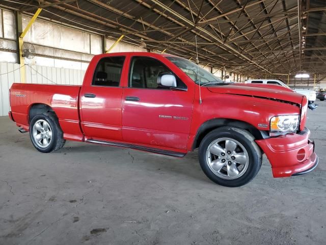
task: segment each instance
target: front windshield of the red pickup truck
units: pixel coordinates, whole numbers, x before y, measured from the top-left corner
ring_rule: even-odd
[[[224,83],[224,81],[213,74],[196,65],[195,63],[174,56],[166,56],[168,60],[178,66],[195,83],[204,85],[207,83]]]

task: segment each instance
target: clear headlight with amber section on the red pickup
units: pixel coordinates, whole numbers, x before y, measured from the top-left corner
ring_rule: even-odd
[[[299,121],[299,115],[274,116],[270,119],[270,132],[295,132],[299,128]]]

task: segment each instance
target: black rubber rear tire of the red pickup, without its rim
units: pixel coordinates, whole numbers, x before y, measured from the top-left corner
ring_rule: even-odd
[[[52,137],[51,137],[50,143],[45,148],[41,148],[36,143],[34,136],[33,136],[33,127],[36,124],[36,122],[39,121],[40,119],[45,120],[47,122],[47,124],[49,125],[49,128],[52,132]],[[42,114],[37,114],[32,118],[32,120],[30,122],[30,137],[31,137],[31,141],[32,141],[34,147],[42,153],[58,151],[66,143],[66,140],[63,138],[63,132],[60,128],[58,118],[55,115],[53,115],[52,113],[48,113],[48,112],[44,112]]]

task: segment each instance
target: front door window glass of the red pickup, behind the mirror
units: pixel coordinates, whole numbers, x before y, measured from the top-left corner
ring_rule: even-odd
[[[157,84],[157,77],[161,73],[173,74],[160,61],[149,57],[133,57],[130,62],[129,87],[169,89]],[[176,77],[177,83],[178,78]]]

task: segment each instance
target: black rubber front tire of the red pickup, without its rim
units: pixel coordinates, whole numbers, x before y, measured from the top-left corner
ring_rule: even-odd
[[[248,153],[248,167],[243,171],[242,175],[236,179],[223,179],[215,175],[208,165],[209,163],[206,158],[208,146],[213,141],[220,138],[231,138],[238,141]],[[254,139],[254,136],[248,131],[234,127],[221,127],[208,133],[199,146],[199,162],[205,175],[216,184],[228,187],[238,187],[249,183],[257,175],[262,163],[262,153]]]

